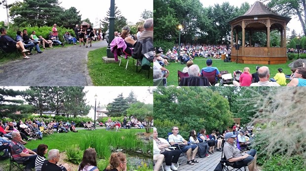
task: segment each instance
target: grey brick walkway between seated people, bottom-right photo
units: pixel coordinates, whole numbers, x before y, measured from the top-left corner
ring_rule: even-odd
[[[216,151],[214,154],[210,154],[210,157],[208,158],[197,157],[195,160],[199,163],[194,163],[194,165],[188,165],[187,159],[182,156],[179,158],[179,163],[181,163],[182,160],[183,162],[179,166],[178,171],[214,171],[220,162],[221,154],[221,151]],[[165,166],[166,164],[163,162],[163,167],[165,168]],[[159,171],[162,171],[161,167]],[[249,171],[248,168],[247,171]]]

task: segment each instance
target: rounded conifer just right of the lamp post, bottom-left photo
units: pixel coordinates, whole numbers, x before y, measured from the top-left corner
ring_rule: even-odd
[[[109,111],[109,116],[119,117],[126,114],[129,108],[127,100],[123,97],[122,93],[114,99],[114,102],[109,103],[106,109]]]

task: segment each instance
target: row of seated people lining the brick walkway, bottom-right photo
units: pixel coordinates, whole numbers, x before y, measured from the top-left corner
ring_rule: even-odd
[[[199,161],[195,159],[196,155],[200,158],[208,158],[221,151],[226,160],[236,167],[248,166],[249,171],[256,171],[256,150],[250,148],[255,137],[254,127],[249,126],[242,130],[235,123],[231,129],[224,130],[222,133],[213,130],[210,134],[206,133],[205,128],[198,133],[192,129],[189,139],[186,140],[179,134],[179,128],[173,126],[168,133],[168,139],[165,140],[158,138],[157,129],[153,128],[154,171],[159,171],[164,160],[165,171],[178,171],[178,160],[182,153],[187,158],[186,164],[197,165]],[[199,165],[202,164],[199,163]]]

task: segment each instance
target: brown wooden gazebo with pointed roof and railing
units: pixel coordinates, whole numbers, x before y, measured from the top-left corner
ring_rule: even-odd
[[[286,63],[286,25],[291,18],[276,14],[265,4],[256,1],[242,16],[229,21],[231,25],[231,60],[248,64],[279,64]],[[235,30],[235,44],[233,43],[233,31]],[[280,32],[280,47],[270,47],[270,30]],[[239,48],[238,33],[242,31],[242,42]],[[267,35],[267,47],[256,47],[252,42],[252,34],[256,31],[265,32]],[[250,35],[246,47],[245,35]],[[238,50],[237,50],[238,49]]]

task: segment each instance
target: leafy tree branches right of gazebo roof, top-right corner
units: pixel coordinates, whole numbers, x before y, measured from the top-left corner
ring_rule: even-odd
[[[268,7],[283,16],[298,16],[306,35],[306,0],[261,0],[268,1]]]

